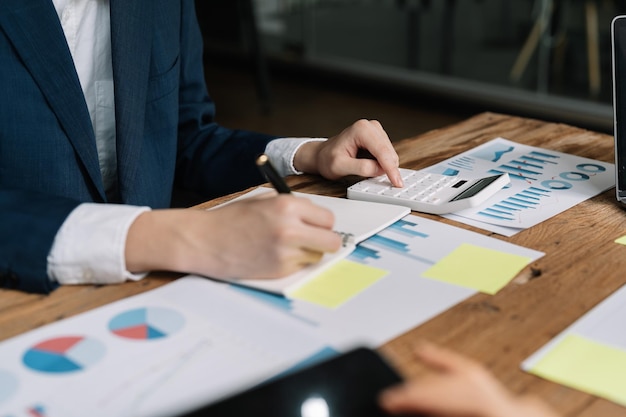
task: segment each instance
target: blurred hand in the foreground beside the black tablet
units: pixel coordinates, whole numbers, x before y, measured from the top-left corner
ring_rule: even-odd
[[[424,343],[417,357],[424,377],[385,390],[380,405],[392,414],[438,417],[558,417],[536,398],[514,396],[487,369],[464,356]]]

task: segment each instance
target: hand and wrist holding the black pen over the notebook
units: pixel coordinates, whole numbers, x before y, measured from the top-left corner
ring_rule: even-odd
[[[243,199],[213,210],[154,210],[126,241],[131,272],[167,270],[213,278],[278,278],[335,252],[334,216],[286,194]]]

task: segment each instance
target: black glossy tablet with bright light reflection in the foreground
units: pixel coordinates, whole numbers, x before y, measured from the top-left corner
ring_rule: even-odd
[[[358,348],[276,377],[184,417],[379,417],[379,392],[401,381],[375,351]]]

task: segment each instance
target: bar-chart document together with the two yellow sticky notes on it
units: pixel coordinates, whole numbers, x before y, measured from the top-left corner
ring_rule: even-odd
[[[542,252],[408,215],[357,245],[293,297],[230,285],[250,304],[321,334],[338,350],[377,347],[476,294],[493,294]]]

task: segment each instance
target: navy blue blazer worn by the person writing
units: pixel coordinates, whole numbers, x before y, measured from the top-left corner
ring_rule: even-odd
[[[110,0],[123,203],[168,207],[263,182],[274,137],[215,123],[193,0]],[[49,292],[46,257],[81,202],[106,203],[94,132],[51,0],[0,1],[0,286]]]

